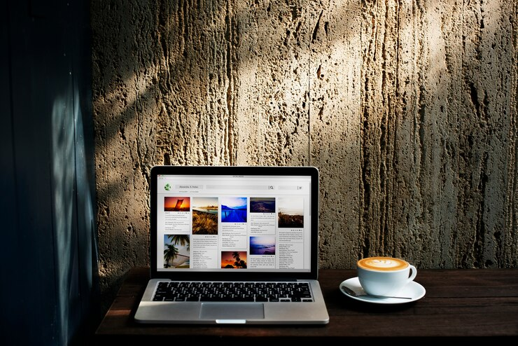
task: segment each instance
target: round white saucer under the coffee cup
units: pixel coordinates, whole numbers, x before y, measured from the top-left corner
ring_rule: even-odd
[[[402,290],[398,293],[398,296],[410,297],[411,299],[400,299],[400,298],[376,298],[376,297],[366,297],[366,296],[358,296],[353,297],[349,294],[345,293],[342,289],[342,286],[347,286],[349,289],[352,289],[358,294],[365,294],[362,286],[360,285],[360,281],[358,277],[351,277],[351,279],[346,279],[340,284],[340,291],[344,293],[346,296],[352,299],[360,300],[367,303],[376,303],[376,304],[402,304],[402,303],[410,303],[416,300],[423,298],[426,293],[426,289],[423,286],[418,284],[415,281],[410,282],[407,286],[403,287]]]

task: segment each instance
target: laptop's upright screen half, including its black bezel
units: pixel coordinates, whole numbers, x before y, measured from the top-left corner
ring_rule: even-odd
[[[152,277],[316,278],[315,167],[151,170]]]

